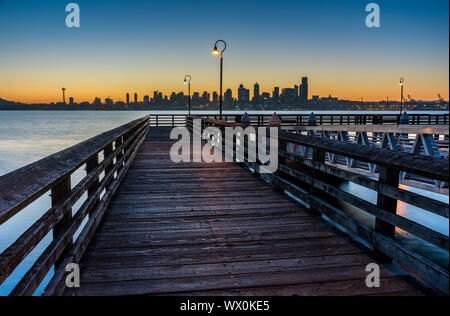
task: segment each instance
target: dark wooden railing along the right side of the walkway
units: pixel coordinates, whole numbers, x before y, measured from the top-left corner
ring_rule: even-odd
[[[188,128],[191,129],[192,119],[188,120]],[[225,135],[226,127],[242,127],[244,129],[246,127],[238,123],[208,119],[202,119],[201,123],[202,128],[208,126],[219,128],[222,135]],[[269,135],[269,132],[266,134]],[[261,139],[258,133],[255,137],[258,142],[266,141]],[[337,227],[357,236],[380,258],[393,260],[413,276],[448,295],[448,267],[444,268],[435,264],[429,258],[406,248],[395,239],[397,227],[448,253],[448,236],[396,214],[399,200],[437,214],[443,219],[448,218],[448,204],[399,188],[400,172],[408,172],[448,183],[449,164],[447,160],[298,135],[282,130],[278,131],[278,139],[279,165],[276,173],[262,173],[262,168],[265,168],[263,164],[258,161],[248,161],[248,139],[245,141],[246,155],[242,163],[267,182],[301,200],[302,203],[306,203],[311,210],[323,215]],[[312,157],[289,152],[289,144],[310,148],[313,152]],[[222,150],[225,151],[225,148],[225,144],[222,142]],[[234,138],[232,149],[236,155],[235,148],[236,138]],[[380,177],[378,180],[374,180],[332,166],[325,161],[327,153],[376,164],[380,169]],[[343,181],[354,182],[376,191],[378,194],[377,204],[340,189],[337,184]],[[374,227],[369,227],[339,209],[337,206],[339,203],[336,201],[344,201],[373,215],[375,217]]]

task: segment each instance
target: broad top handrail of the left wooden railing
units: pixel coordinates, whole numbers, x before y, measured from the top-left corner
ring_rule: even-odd
[[[145,116],[134,120],[1,176],[0,224],[73,173],[116,138],[148,119],[149,116]]]

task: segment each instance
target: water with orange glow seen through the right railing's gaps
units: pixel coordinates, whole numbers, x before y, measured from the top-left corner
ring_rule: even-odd
[[[377,203],[377,192],[362,187],[358,184],[352,182],[344,182],[341,184],[340,188],[346,192],[352,193],[353,195],[364,199],[370,203]],[[449,197],[446,195],[424,191],[417,188],[412,188],[406,185],[401,185],[402,189],[412,191],[418,194],[423,194],[428,196],[429,198],[449,203]],[[375,227],[375,217],[363,212],[345,202],[340,202],[342,209],[352,217],[361,221],[369,227]],[[419,207],[404,203],[399,201],[397,204],[397,214],[403,217],[406,217],[412,221],[422,224],[425,227],[428,227],[434,231],[437,231],[446,236],[449,235],[449,220],[448,218],[436,215],[434,213],[430,213],[424,209]],[[434,245],[429,244],[428,242],[423,241],[420,238],[414,237],[411,234],[397,228],[396,229],[396,239],[406,246],[408,249],[412,249],[418,254],[431,259],[433,262],[438,265],[447,268],[449,266],[449,256],[448,252],[442,250]]]

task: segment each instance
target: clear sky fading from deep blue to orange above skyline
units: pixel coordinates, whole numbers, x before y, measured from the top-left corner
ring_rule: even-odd
[[[375,2],[381,26],[368,28]],[[80,6],[81,27],[67,28],[65,7]],[[299,85],[309,95],[398,100],[449,97],[447,0],[0,0],[0,98],[75,102],[125,100],[239,84],[262,92]]]

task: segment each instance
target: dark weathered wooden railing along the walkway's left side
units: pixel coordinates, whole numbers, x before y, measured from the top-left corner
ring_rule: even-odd
[[[10,295],[34,294],[52,267],[55,274],[44,295],[61,294],[66,266],[79,262],[148,128],[147,116],[0,177],[0,225],[48,191],[52,201],[51,208],[0,254],[2,284],[53,231],[51,243]],[[102,161],[100,156],[104,157]],[[86,176],[72,188],[71,175],[83,166]],[[73,206],[85,193],[87,199],[72,214]]]

